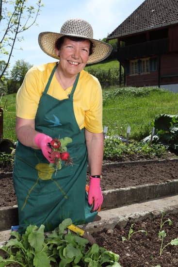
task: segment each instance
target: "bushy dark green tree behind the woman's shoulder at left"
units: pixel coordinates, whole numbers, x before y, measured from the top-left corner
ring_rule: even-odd
[[[11,79],[8,81],[8,94],[16,93],[22,84],[25,74],[32,67],[28,62],[23,59],[17,60],[13,69],[11,70]]]

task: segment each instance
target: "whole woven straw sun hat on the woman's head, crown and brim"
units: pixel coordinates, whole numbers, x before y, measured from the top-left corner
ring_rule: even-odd
[[[93,53],[89,56],[87,64],[97,63],[106,59],[113,50],[110,44],[93,39],[92,26],[87,21],[79,18],[65,21],[60,33],[40,33],[38,36],[40,48],[47,55],[59,59],[55,53],[55,43],[62,36],[81,37],[89,39],[93,43]]]

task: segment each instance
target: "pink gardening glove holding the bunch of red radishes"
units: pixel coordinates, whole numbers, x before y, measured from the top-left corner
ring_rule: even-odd
[[[49,135],[38,133],[34,137],[34,142],[42,150],[43,155],[45,158],[50,162],[54,163],[54,161],[51,161],[50,154],[52,152],[52,149],[49,147],[49,143],[52,140],[52,138]]]

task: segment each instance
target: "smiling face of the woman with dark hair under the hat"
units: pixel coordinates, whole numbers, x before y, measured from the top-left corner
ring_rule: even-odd
[[[60,56],[59,68],[68,76],[77,75],[86,65],[89,51],[89,40],[72,41],[66,37],[61,48],[56,49]]]

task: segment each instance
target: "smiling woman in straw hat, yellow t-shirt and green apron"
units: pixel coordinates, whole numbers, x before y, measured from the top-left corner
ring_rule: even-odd
[[[19,232],[29,224],[50,231],[68,217],[74,224],[93,221],[103,201],[102,93],[98,80],[83,69],[107,58],[112,47],[93,39],[91,25],[82,19],[69,19],[60,33],[40,33],[38,40],[59,62],[32,67],[16,96],[13,179]],[[65,137],[71,140],[66,148],[72,165],[62,161],[56,170],[49,164],[54,163],[49,143]]]

